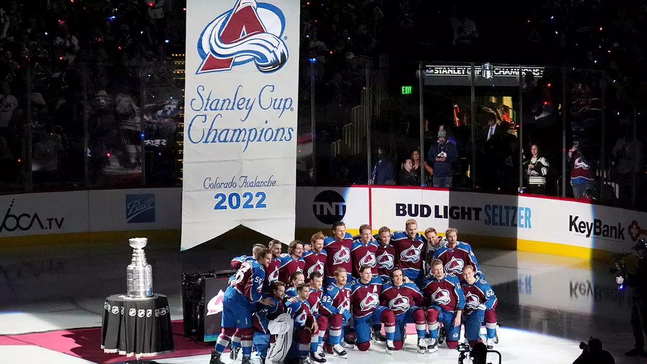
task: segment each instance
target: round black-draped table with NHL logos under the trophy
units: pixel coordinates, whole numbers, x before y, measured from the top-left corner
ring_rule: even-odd
[[[173,347],[171,313],[165,295],[133,299],[111,295],[105,299],[101,348],[136,359],[168,354]]]

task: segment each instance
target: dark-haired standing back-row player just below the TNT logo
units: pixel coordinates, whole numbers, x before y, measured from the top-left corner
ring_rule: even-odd
[[[353,236],[346,233],[346,225],[343,222],[333,223],[333,236],[327,236],[323,240],[323,249],[327,253],[324,267],[326,275],[326,284],[334,282],[334,272],[337,268],[344,268],[348,277],[347,282],[351,282],[351,246],[353,245]]]

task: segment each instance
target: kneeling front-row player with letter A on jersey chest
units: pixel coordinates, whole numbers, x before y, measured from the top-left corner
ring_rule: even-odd
[[[386,352],[393,353],[393,338],[395,335],[395,315],[385,306],[380,306],[382,280],[373,278],[370,266],[360,267],[361,277],[353,284],[351,308],[357,348],[366,351],[371,347],[371,326],[384,323],[386,332]]]

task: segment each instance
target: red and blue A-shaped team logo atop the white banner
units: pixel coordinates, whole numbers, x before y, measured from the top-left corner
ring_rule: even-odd
[[[230,71],[254,62],[263,73],[278,71],[288,60],[283,12],[256,0],[238,0],[203,30],[197,44],[202,64],[195,74]]]

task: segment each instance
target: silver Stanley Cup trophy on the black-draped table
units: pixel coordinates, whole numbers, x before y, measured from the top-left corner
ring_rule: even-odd
[[[153,268],[146,263],[144,247],[148,239],[132,238],[128,243],[133,247],[133,259],[126,268],[127,295],[131,298],[146,298],[153,296]]]

